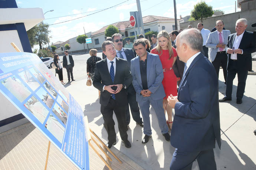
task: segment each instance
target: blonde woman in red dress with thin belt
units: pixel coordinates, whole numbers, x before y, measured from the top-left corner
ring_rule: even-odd
[[[164,79],[162,81],[162,84],[164,86],[165,91],[165,98],[163,101],[163,107],[164,112],[166,110],[168,120],[166,121],[169,129],[171,130],[171,127],[173,125],[172,121],[172,109],[167,102],[168,96],[171,94],[173,96],[177,96],[177,77],[174,74],[173,71],[173,65],[177,58],[177,52],[175,48],[171,45],[171,38],[167,31],[163,30],[160,31],[157,35],[157,46],[151,50],[151,53],[158,54],[163,66],[163,72],[164,72]]]

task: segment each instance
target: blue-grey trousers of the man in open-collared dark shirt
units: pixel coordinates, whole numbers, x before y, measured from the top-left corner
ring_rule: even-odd
[[[142,100],[138,103],[141,109],[141,115],[144,122],[143,133],[148,136],[152,134],[151,126],[150,126],[150,116],[149,116],[150,103],[155,110],[155,114],[157,115],[158,125],[161,129],[161,132],[163,134],[167,133],[169,129],[166,124],[164,108],[163,108],[163,99],[154,100],[152,99],[151,96],[149,96],[149,97],[143,97]]]

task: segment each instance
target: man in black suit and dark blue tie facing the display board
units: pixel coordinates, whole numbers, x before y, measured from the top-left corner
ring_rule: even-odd
[[[131,147],[125,122],[125,111],[128,104],[125,88],[132,82],[131,72],[127,61],[116,57],[112,41],[104,41],[101,48],[107,57],[96,62],[93,86],[101,91],[99,103],[101,104],[104,127],[108,132],[107,145],[111,148],[116,144],[114,111],[122,142],[125,147]]]

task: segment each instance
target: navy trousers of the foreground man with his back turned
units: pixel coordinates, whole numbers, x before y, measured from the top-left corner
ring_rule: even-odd
[[[170,170],[191,170],[195,160],[197,160],[200,170],[217,169],[213,149],[187,152],[176,148],[171,160]]]

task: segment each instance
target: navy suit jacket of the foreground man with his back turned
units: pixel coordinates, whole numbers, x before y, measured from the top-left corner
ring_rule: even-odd
[[[220,147],[219,91],[216,71],[203,54],[187,68],[178,90],[171,145],[184,151]]]

